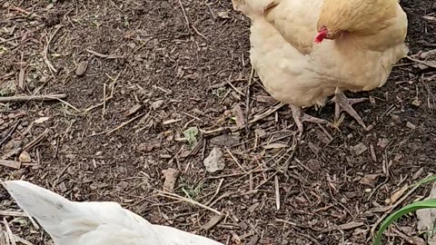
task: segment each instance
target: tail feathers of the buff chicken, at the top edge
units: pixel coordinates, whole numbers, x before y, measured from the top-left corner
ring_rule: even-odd
[[[263,13],[278,5],[281,0],[232,0],[233,9],[243,12],[249,17],[253,15],[263,15]]]

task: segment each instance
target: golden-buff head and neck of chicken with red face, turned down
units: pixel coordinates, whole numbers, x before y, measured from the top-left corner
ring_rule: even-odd
[[[376,34],[396,15],[398,0],[324,0],[315,43],[342,34]]]

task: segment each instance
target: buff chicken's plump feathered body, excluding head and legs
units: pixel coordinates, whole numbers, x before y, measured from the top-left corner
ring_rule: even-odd
[[[250,1],[256,0],[245,0],[246,5]],[[263,2],[264,6],[275,5],[265,13],[249,9],[254,6],[243,12],[252,19],[253,68],[267,92],[282,103],[322,105],[336,89],[358,92],[380,87],[393,64],[408,52],[404,44],[407,16],[400,5],[391,26],[380,34],[347,35],[314,44],[322,0],[273,2]]]

